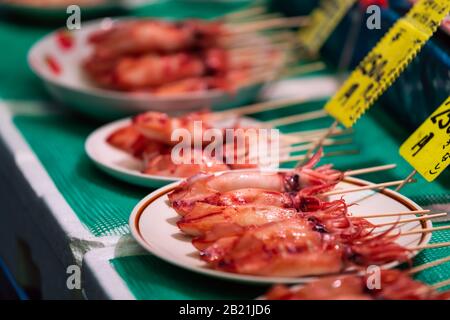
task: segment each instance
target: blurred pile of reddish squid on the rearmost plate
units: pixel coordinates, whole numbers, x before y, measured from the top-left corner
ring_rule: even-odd
[[[221,22],[121,21],[89,37],[84,71],[102,88],[157,96],[220,89],[229,92],[269,78],[284,53],[270,42],[234,46]]]

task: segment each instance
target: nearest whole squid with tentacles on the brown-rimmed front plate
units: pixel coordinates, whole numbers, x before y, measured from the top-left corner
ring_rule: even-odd
[[[217,270],[281,277],[331,274],[409,260],[409,250],[395,244],[392,237],[344,243],[314,227],[311,221],[295,218],[267,223],[239,236],[220,238],[203,250],[201,257]]]

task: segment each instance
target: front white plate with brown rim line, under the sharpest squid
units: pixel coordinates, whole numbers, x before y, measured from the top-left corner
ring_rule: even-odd
[[[220,174],[220,173],[219,173]],[[155,256],[197,273],[202,273],[217,278],[223,278],[233,281],[248,282],[254,284],[270,283],[305,283],[316,279],[317,277],[263,277],[249,276],[234,273],[227,273],[210,269],[205,262],[200,260],[198,251],[191,244],[191,237],[183,234],[177,227],[176,222],[180,218],[168,203],[167,194],[177,185],[173,183],[151,193],[134,208],[130,217],[130,229],[133,237],[147,251]],[[352,188],[371,184],[370,182],[346,178],[344,182],[338,184],[337,188]],[[354,216],[362,214],[380,213],[380,212],[400,212],[408,210],[421,210],[421,208],[402,196],[401,194],[383,190],[374,192],[370,190],[346,194],[347,203],[358,202],[357,206],[352,206],[350,212]],[[330,199],[340,199],[341,195],[330,197]],[[402,216],[401,219],[413,218],[415,215]],[[373,223],[395,222],[396,217],[383,217],[368,219]],[[429,220],[422,222],[410,222],[402,225],[401,230],[411,230],[416,228],[430,228],[432,224]],[[382,230],[382,229],[380,229]],[[427,244],[431,239],[431,234],[414,234],[400,237],[397,242],[406,247]],[[417,254],[415,252],[412,255]],[[398,263],[390,263],[384,268],[393,268]]]

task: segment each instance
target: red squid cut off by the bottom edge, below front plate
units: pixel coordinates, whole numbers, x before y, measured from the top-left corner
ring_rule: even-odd
[[[437,292],[400,270],[382,270],[380,289],[368,289],[367,276],[325,277],[298,288],[278,285],[267,300],[448,300],[450,292]]]

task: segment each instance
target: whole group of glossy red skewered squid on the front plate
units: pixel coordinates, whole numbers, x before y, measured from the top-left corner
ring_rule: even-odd
[[[168,195],[177,225],[210,267],[232,273],[300,277],[408,261],[395,224],[378,232],[343,199],[327,200],[344,174],[314,168],[319,159],[287,173],[194,176]]]

